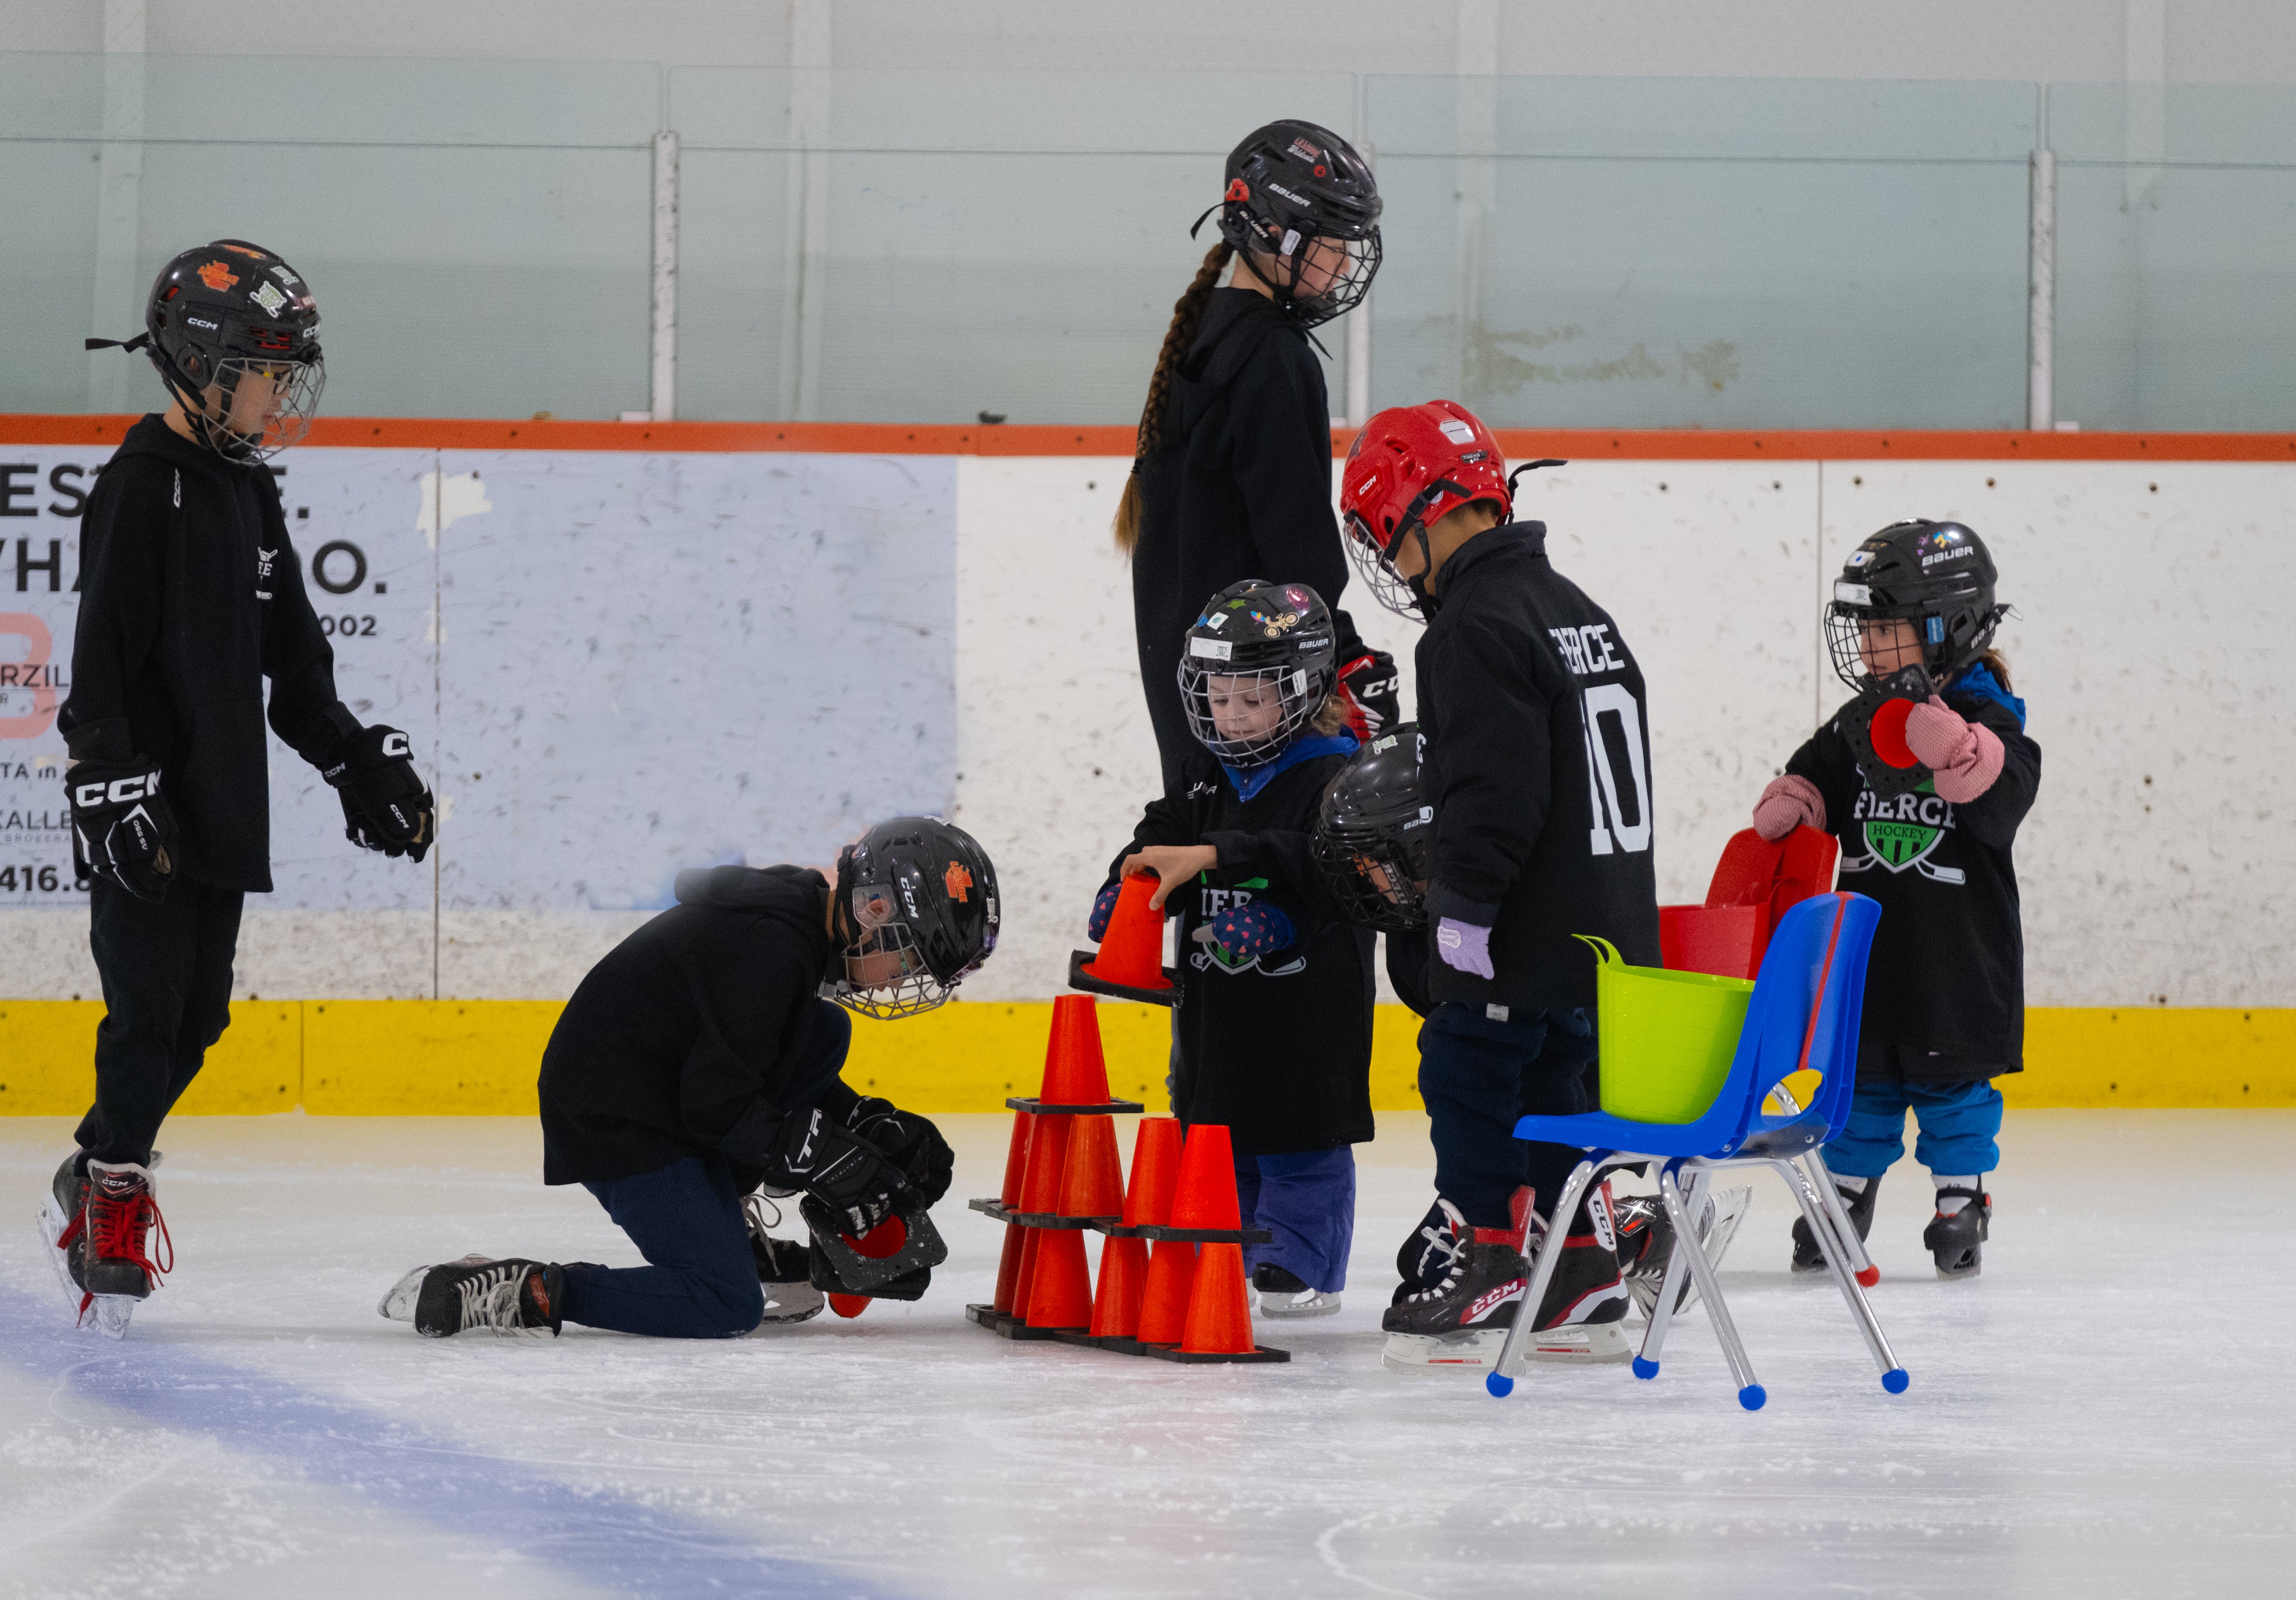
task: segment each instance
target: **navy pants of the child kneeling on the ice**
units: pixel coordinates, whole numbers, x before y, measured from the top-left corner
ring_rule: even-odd
[[[567,1322],[654,1338],[739,1338],[765,1320],[748,1221],[721,1155],[585,1182],[645,1267],[567,1267]]]

